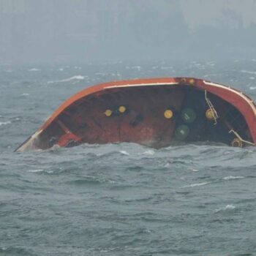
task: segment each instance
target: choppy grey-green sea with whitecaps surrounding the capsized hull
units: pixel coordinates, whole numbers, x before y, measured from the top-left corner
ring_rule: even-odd
[[[192,76],[256,98],[256,60],[0,66],[0,255],[256,255],[256,149],[13,153],[96,83]]]

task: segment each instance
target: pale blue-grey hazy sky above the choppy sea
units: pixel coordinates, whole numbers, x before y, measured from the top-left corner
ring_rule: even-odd
[[[0,0],[0,62],[245,59],[256,0]]]

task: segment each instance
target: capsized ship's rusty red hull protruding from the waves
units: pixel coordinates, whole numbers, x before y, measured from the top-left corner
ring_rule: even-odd
[[[241,91],[195,78],[102,83],[67,99],[16,151],[200,141],[255,146],[255,103]]]

